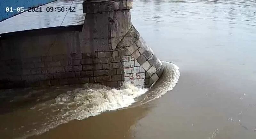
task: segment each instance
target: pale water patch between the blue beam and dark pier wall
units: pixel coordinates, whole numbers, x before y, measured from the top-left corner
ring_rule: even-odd
[[[4,36],[6,33],[17,33],[17,31],[83,25],[85,13],[83,13],[82,3],[83,0],[57,0],[39,6],[42,12],[32,12],[30,10],[30,12],[26,11],[8,18],[0,22],[0,36]],[[53,11],[50,9],[51,7]],[[64,11],[58,12],[58,7],[60,7],[60,10],[63,7]],[[68,10],[70,7],[71,12]],[[47,11],[47,9],[50,11]]]

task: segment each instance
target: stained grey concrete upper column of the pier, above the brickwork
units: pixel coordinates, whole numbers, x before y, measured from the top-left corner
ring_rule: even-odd
[[[131,28],[132,0],[87,0],[85,39],[95,51],[115,50],[117,44]]]

